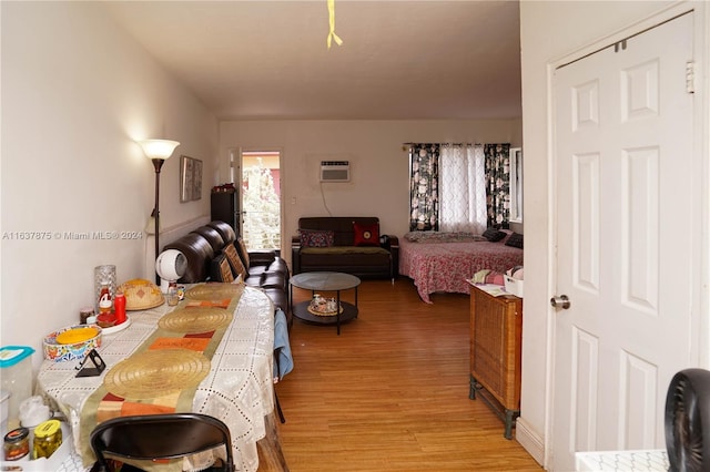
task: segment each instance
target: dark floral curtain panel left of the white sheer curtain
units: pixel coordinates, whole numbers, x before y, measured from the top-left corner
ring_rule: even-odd
[[[409,230],[438,230],[438,144],[412,145],[409,175]]]

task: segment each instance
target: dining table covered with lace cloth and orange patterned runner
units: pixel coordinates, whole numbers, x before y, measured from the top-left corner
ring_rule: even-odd
[[[90,365],[82,360],[42,362],[37,391],[65,417],[72,432],[72,458],[64,465],[91,466],[95,459],[89,437],[98,422],[171,410],[222,420],[239,471],[258,469],[262,440],[276,451],[261,455],[281,456],[285,464],[277,430],[270,425],[275,404],[274,305],[265,293],[244,284],[187,286],[178,306],[129,311],[124,324],[102,331],[97,351],[105,368],[98,376],[78,377]],[[178,353],[178,367],[171,366],[173,360],[151,358],[161,352]]]

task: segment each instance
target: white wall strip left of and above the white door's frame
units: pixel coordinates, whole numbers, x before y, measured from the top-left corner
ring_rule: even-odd
[[[525,308],[521,418],[516,437],[544,461],[550,402],[546,384],[554,359],[547,355],[555,316],[551,244],[550,154],[547,126],[548,64],[630,27],[672,3],[648,1],[521,1],[523,141],[525,155]]]

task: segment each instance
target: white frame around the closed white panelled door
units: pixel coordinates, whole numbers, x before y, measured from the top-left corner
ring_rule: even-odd
[[[698,307],[699,312],[693,316],[691,321],[694,331],[694,342],[691,348],[692,358],[696,366],[710,369],[710,131],[707,130],[710,123],[710,103],[708,103],[708,90],[710,90],[710,64],[708,63],[708,51],[710,49],[710,8],[701,2],[681,2],[673,3],[655,14],[640,20],[631,25],[617,30],[608,35],[592,41],[580,48],[577,48],[547,64],[546,70],[546,89],[547,89],[547,168],[549,183],[547,193],[548,206],[548,247],[549,258],[547,260],[547,286],[550,293],[548,298],[555,296],[557,288],[557,226],[559,218],[557,214],[557,137],[555,132],[556,107],[555,107],[555,71],[560,66],[570,62],[578,61],[596,51],[613,45],[615,43],[627,39],[631,35],[639,34],[660,23],[672,20],[689,11],[694,11],[694,61],[696,61],[696,83],[694,95],[697,106],[693,110],[694,130],[693,130],[693,166],[702,170],[702,175],[697,178],[700,185],[699,195],[701,202],[698,204],[698,220],[688,222],[689,230],[694,235],[693,247],[700,255],[700,261],[697,265],[694,280],[691,281],[696,287],[692,306]],[[707,38],[707,39],[706,39]],[[702,68],[702,70],[700,70]],[[706,78],[702,81],[702,78]],[[703,238],[704,235],[704,238]],[[704,287],[704,288],[703,288]],[[552,465],[552,418],[555,406],[555,351],[556,351],[556,318],[557,311],[547,306],[546,332],[548,334],[545,347],[546,356],[546,378],[545,378],[545,438],[544,440],[544,466],[547,469]],[[524,432],[524,431],[519,431]],[[529,437],[523,439],[526,444],[539,445],[537,438]],[[531,451],[535,452],[535,451]],[[540,451],[537,451],[540,452]]]

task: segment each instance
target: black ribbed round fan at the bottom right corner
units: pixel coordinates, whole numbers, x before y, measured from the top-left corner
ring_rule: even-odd
[[[703,440],[703,433],[708,440]],[[686,369],[670,381],[666,448],[672,472],[710,470],[710,371]]]

